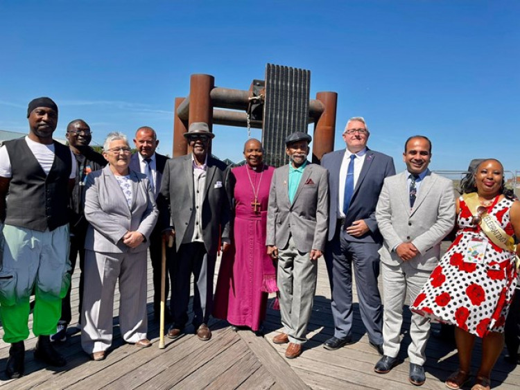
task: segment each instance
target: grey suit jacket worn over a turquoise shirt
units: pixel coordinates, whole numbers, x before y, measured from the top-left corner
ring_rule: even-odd
[[[266,245],[282,249],[291,233],[299,251],[324,251],[329,215],[327,170],[308,163],[292,203],[288,182],[289,166],[275,169],[269,191]]]

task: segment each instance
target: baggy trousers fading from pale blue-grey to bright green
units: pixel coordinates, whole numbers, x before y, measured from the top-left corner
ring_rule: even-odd
[[[29,299],[35,292],[33,333],[52,335],[70,285],[69,226],[35,231],[4,225],[1,235],[0,317],[6,343],[29,336]]]

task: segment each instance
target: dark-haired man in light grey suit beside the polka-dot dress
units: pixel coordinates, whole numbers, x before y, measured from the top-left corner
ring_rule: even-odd
[[[405,143],[406,171],[385,179],[376,208],[379,231],[384,238],[381,254],[383,272],[383,350],[374,367],[388,373],[397,363],[405,297],[415,300],[439,261],[440,242],[453,228],[455,197],[451,180],[428,170],[431,142],[412,136]],[[430,321],[412,314],[408,347],[409,380],[420,386],[426,380],[424,350]]]

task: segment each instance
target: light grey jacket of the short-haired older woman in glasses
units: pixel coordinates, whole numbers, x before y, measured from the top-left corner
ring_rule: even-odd
[[[85,218],[89,227],[85,249],[108,253],[146,251],[159,211],[146,175],[130,170],[130,179],[133,194],[131,209],[110,166],[87,176]],[[121,240],[127,231],[139,231],[146,241],[131,249]]]

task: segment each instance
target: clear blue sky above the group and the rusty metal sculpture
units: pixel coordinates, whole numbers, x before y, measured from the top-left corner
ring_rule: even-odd
[[[0,20],[1,130],[26,132],[28,101],[50,96],[56,136],[73,118],[98,143],[150,125],[171,154],[192,73],[248,89],[270,62],[309,69],[311,98],[338,92],[336,149],[347,119],[364,116],[370,148],[397,170],[413,134],[433,141],[434,170],[478,157],[520,169],[518,1],[0,0]],[[214,132],[214,154],[239,161],[247,131]]]

